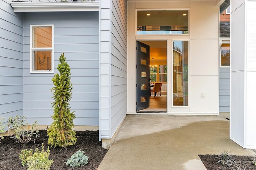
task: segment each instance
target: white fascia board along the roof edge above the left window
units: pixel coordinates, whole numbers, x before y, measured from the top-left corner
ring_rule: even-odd
[[[99,11],[100,2],[11,2],[14,12]]]

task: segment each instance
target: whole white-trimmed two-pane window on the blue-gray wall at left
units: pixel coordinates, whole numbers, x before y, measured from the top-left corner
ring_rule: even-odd
[[[53,72],[53,25],[30,25],[30,72]]]

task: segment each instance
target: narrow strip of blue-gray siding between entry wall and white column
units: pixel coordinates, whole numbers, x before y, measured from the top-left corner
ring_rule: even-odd
[[[220,112],[229,112],[230,68],[220,68]]]

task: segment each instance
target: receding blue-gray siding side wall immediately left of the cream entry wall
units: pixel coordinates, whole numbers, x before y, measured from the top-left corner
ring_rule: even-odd
[[[111,135],[127,112],[127,2],[112,0]]]

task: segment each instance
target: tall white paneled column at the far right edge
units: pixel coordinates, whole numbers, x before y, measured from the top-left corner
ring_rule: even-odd
[[[256,149],[255,0],[231,1],[230,139]]]

